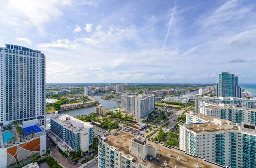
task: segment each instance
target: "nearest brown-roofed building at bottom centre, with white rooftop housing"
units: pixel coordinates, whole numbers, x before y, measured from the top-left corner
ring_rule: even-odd
[[[100,139],[98,156],[101,168],[224,167],[120,129]]]

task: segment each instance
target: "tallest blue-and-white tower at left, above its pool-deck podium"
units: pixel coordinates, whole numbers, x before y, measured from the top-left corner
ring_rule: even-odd
[[[45,125],[45,55],[6,44],[0,64],[0,126],[33,119]]]

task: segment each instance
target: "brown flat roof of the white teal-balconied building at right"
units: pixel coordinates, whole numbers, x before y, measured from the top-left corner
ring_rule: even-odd
[[[229,129],[220,125],[216,125],[214,123],[194,123],[194,124],[179,124],[179,125],[186,126],[186,128],[188,128],[189,130],[195,133],[237,130],[236,128]]]

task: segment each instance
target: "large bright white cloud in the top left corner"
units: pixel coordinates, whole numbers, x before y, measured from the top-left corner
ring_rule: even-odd
[[[45,22],[52,17],[63,15],[60,10],[62,6],[71,5],[69,0],[10,0],[7,2],[5,10],[2,10],[2,16],[8,16],[7,23],[16,26],[32,24],[41,32]]]

